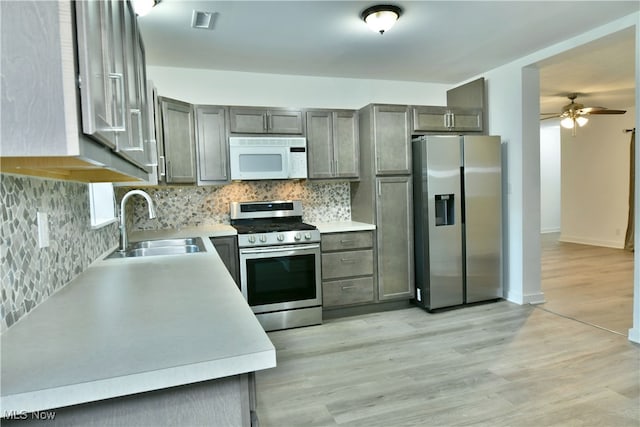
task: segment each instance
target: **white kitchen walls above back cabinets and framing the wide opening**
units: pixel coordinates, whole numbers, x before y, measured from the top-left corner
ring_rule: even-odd
[[[514,62],[474,76],[487,80],[489,133],[503,141],[505,203],[505,289],[510,301],[544,301],[540,285],[539,79],[535,64],[606,35],[634,27],[640,13],[613,21]],[[636,27],[636,46],[640,46]],[[640,71],[636,54],[636,73]],[[192,103],[296,107],[360,108],[371,102],[444,105],[448,87],[437,84],[324,79],[149,67],[160,95]],[[636,78],[636,99],[640,85]],[[464,82],[460,82],[464,83]],[[455,85],[454,85],[455,86]],[[636,118],[638,113],[636,110]],[[636,151],[640,163],[640,150]],[[640,174],[636,175],[640,192]],[[640,199],[637,197],[636,200]],[[636,209],[636,223],[640,209]],[[636,233],[640,247],[640,233]],[[640,342],[640,251],[636,251],[634,328]]]

